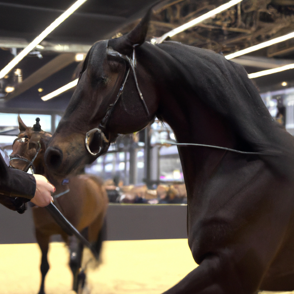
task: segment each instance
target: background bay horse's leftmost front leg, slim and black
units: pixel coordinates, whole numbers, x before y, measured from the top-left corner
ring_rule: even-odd
[[[49,270],[49,263],[47,260],[47,253],[48,253],[48,248],[49,248],[49,235],[45,235],[45,234],[41,233],[41,231],[36,229],[36,238],[37,238],[37,242],[38,242],[40,249],[41,249],[41,252],[42,252],[41,267],[40,267],[41,274],[42,274],[42,280],[41,280],[39,294],[45,294],[44,282],[45,282],[45,276]]]

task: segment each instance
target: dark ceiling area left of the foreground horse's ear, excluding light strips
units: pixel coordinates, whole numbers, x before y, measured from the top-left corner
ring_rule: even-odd
[[[121,26],[132,23],[144,15],[146,8],[153,2],[154,0],[86,1],[41,42],[45,47],[44,50],[34,50],[16,66],[22,71],[22,80],[26,80],[31,74],[65,52],[72,53],[74,57],[77,52],[87,52],[95,41],[111,38]],[[73,3],[74,0],[0,1],[0,68],[6,66],[14,58],[14,54],[19,53]],[[53,65],[56,65],[56,62]],[[40,97],[72,80],[78,62],[73,59],[72,62],[65,62],[64,65],[58,72],[9,101],[6,101],[6,97],[2,98],[0,111],[62,113],[72,91],[46,102]],[[13,70],[8,78],[2,81],[0,79],[2,93],[7,85],[15,85],[16,78]],[[44,91],[39,93],[39,88]]]

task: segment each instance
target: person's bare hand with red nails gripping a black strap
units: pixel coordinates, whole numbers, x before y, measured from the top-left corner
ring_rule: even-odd
[[[55,187],[48,182],[48,180],[41,175],[33,175],[36,179],[36,192],[35,196],[31,199],[31,202],[37,206],[44,207],[53,201],[53,197],[50,192],[55,192]]]

